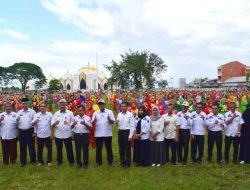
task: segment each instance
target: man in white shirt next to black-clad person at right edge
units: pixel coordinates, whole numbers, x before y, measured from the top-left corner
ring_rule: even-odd
[[[240,145],[240,132],[241,125],[244,124],[244,121],[241,117],[241,113],[236,111],[235,102],[229,103],[229,109],[225,114],[225,163],[229,162],[229,152],[230,147],[233,142],[233,162],[237,163],[239,160],[239,145]]]

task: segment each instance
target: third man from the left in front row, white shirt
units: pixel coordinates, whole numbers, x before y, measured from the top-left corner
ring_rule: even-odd
[[[38,166],[44,164],[43,160],[43,146],[47,147],[47,164],[51,166],[52,161],[52,139],[53,128],[51,127],[52,114],[47,112],[46,103],[41,102],[39,105],[40,112],[36,113],[32,125],[35,128],[35,135],[37,136],[37,160]]]

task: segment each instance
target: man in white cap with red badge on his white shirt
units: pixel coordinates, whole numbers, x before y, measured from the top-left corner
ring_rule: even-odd
[[[51,121],[52,127],[55,128],[55,142],[57,151],[57,166],[60,166],[63,162],[62,147],[63,143],[67,152],[67,159],[69,166],[74,165],[74,155],[72,148],[72,130],[71,125],[74,121],[74,115],[71,111],[66,109],[66,100],[61,99],[59,101],[60,110],[57,111]]]

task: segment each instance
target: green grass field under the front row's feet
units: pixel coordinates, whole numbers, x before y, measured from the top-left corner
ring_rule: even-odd
[[[207,149],[207,145],[205,145]],[[231,148],[232,152],[232,148]],[[204,162],[202,165],[165,165],[160,168],[129,169],[119,167],[117,129],[113,127],[113,153],[115,167],[110,168],[103,149],[103,165],[95,168],[95,149],[90,149],[88,170],[70,168],[64,149],[64,163],[56,167],[56,151],[53,145],[53,167],[27,165],[0,166],[0,189],[250,189],[250,165],[222,165]],[[44,156],[46,149],[44,151]],[[206,158],[205,150],[205,158]],[[215,155],[215,150],[214,154]],[[190,154],[189,154],[190,157]],[[0,153],[0,159],[2,155]]]

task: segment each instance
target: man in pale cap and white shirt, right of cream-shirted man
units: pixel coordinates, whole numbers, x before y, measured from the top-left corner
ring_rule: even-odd
[[[188,147],[190,140],[190,129],[192,124],[192,114],[188,112],[189,103],[183,102],[182,111],[177,113],[180,120],[180,139],[177,145],[178,162],[182,162],[184,165],[187,164],[188,158]],[[182,156],[183,151],[183,156]]]

